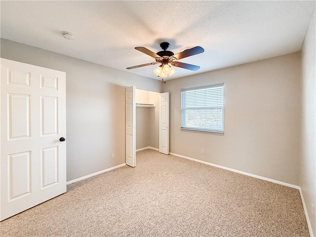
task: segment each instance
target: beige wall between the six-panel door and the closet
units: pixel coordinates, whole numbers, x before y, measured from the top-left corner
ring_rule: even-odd
[[[124,86],[162,89],[155,79],[10,40],[1,39],[1,57],[66,72],[67,181],[125,162]]]

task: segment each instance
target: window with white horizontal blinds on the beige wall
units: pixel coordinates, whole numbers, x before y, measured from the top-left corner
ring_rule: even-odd
[[[181,129],[224,133],[224,83],[181,89]]]

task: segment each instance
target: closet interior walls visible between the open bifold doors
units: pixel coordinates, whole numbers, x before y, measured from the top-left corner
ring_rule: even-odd
[[[154,104],[156,107],[137,107]],[[159,93],[136,89],[136,150],[159,148]]]

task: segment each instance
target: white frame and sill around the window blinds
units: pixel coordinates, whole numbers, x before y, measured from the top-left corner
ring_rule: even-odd
[[[212,129],[198,129],[198,128],[191,128],[191,127],[182,127],[183,124],[183,112],[182,112],[182,92],[184,91],[191,91],[191,90],[197,90],[197,89],[206,89],[206,88],[212,88],[212,87],[223,87],[223,110],[222,110],[222,120],[223,120],[223,130],[212,130]],[[200,133],[210,133],[210,134],[216,134],[216,135],[224,135],[224,110],[225,110],[225,85],[223,83],[217,83],[217,84],[211,84],[211,85],[203,85],[203,86],[197,86],[197,87],[190,87],[190,88],[183,88],[180,89],[180,129],[181,131],[191,131],[191,132],[200,132]]]

